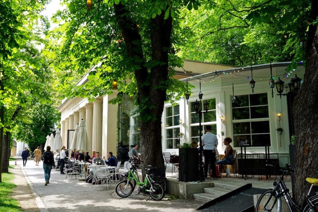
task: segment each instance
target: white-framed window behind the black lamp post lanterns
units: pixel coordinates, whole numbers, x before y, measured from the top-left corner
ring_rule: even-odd
[[[204,100],[205,101],[205,100]],[[202,101],[200,108],[201,110],[203,110],[203,103],[204,101]],[[201,118],[201,132],[202,135],[205,133],[205,128],[204,126],[206,125],[211,125],[211,132],[213,134],[217,133],[217,125],[216,125],[216,102],[215,99],[207,99],[207,101],[209,102],[209,110],[207,112],[203,112],[202,113],[202,118]],[[199,141],[200,139],[200,130],[199,130],[199,114],[197,114],[194,110],[194,102],[190,102],[190,116],[191,116],[191,123],[190,123],[190,127],[191,127],[191,141],[195,140],[195,141]]]

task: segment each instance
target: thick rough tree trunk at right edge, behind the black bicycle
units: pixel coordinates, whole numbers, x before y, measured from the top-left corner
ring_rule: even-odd
[[[315,18],[318,15],[318,4],[312,1],[311,14]],[[306,177],[318,176],[318,31],[313,24],[309,26],[308,47],[306,58],[306,71],[304,82],[298,92],[294,104],[294,127],[295,127],[295,181],[294,199],[301,205],[305,194],[308,193],[310,184],[306,182]],[[317,191],[315,187],[312,194]]]

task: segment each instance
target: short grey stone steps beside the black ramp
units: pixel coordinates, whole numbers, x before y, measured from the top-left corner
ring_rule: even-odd
[[[214,182],[214,187],[204,188],[204,193],[193,194],[193,197],[197,201],[209,202],[239,187],[240,186]]]

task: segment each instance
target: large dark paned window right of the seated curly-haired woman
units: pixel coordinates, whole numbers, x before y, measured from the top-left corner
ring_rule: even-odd
[[[267,93],[237,96],[232,103],[233,145],[270,145]]]

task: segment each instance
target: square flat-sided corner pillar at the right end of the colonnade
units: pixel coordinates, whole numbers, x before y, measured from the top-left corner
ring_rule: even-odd
[[[113,155],[117,155],[117,108],[118,105],[108,104],[110,99],[114,99],[116,94],[103,96],[103,143],[102,153],[106,155],[108,151],[112,151]]]

